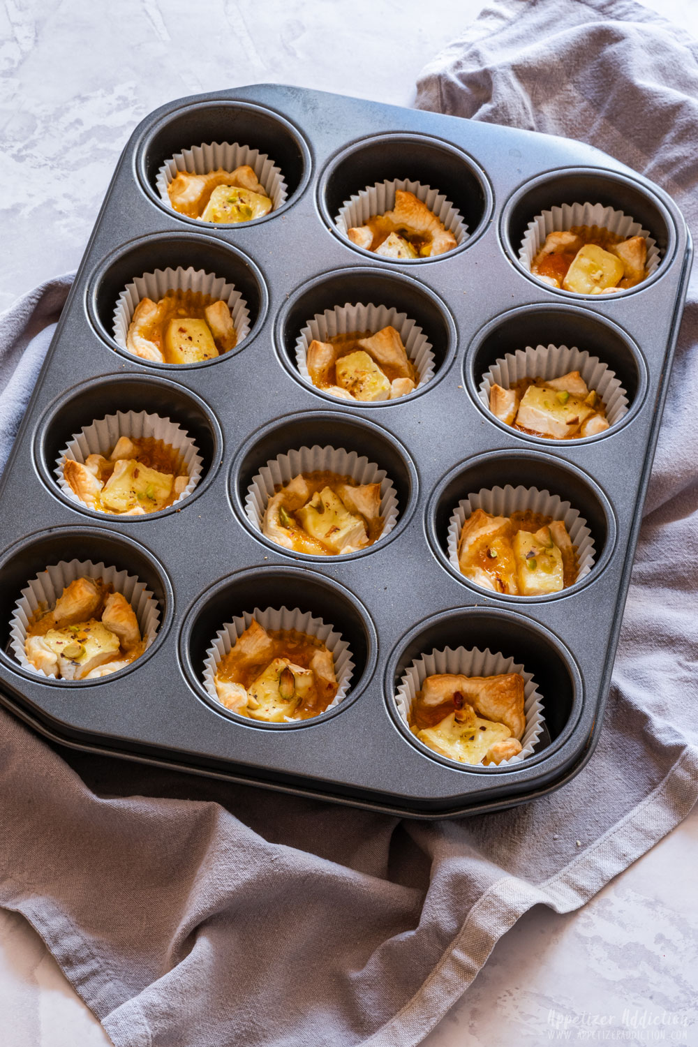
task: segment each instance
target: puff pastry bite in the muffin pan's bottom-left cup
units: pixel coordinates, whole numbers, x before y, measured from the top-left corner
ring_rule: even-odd
[[[66,585],[52,610],[29,623],[24,651],[39,672],[60,680],[96,680],[130,665],[145,642],[129,601],[95,578]]]

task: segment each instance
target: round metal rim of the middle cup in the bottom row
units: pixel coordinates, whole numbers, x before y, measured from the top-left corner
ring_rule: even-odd
[[[232,710],[226,709],[225,706],[221,705],[220,703],[215,701],[212,696],[206,691],[206,688],[199,678],[199,674],[197,673],[197,670],[193,664],[193,660],[190,656],[192,633],[194,630],[194,626],[196,624],[196,619],[201,614],[201,611],[204,610],[206,605],[210,603],[210,601],[213,600],[220,592],[228,588],[231,582],[234,583],[234,580],[238,579],[243,580],[246,579],[247,577],[251,577],[252,575],[271,576],[275,574],[279,576],[288,576],[291,579],[295,579],[298,582],[299,587],[302,587],[303,580],[310,574],[314,584],[325,586],[330,592],[334,592],[335,595],[339,595],[340,599],[345,600],[348,604],[352,605],[354,611],[357,614],[357,617],[360,619],[361,624],[363,625],[365,630],[367,646],[368,646],[366,664],[363,668],[363,671],[361,672],[360,675],[357,673],[357,683],[355,684],[354,682],[352,682],[352,685],[350,687],[346,696],[342,698],[339,705],[335,706],[334,709],[325,709],[318,716],[311,716],[308,719],[303,720],[295,720],[294,722],[291,723],[272,723],[272,722],[267,722],[265,720],[254,720],[248,716],[241,716],[238,713],[233,712]],[[284,605],[289,606],[289,604],[293,604],[294,600],[296,599],[297,597],[295,595],[289,596],[287,599],[283,600],[279,603],[279,607]],[[266,603],[267,602],[266,599],[263,602]],[[240,610],[235,611],[235,614],[242,614],[243,610],[251,611],[251,609],[252,608],[243,607]],[[232,610],[229,612],[229,616],[230,617],[232,616]],[[316,617],[321,617],[321,616],[316,616]],[[227,620],[229,619],[226,619],[226,621]],[[336,631],[341,632],[341,627],[338,625],[336,621],[333,621],[330,624],[332,624],[333,628]],[[222,621],[219,625],[219,628],[223,628],[223,625],[224,622]],[[210,642],[213,641],[215,636],[216,633],[211,634]],[[182,623],[178,629],[177,658],[179,661],[180,670],[183,673],[187,684],[189,685],[189,688],[194,691],[196,697],[204,701],[205,705],[208,706],[208,708],[212,709],[215,713],[218,713],[220,716],[222,716],[224,720],[227,720],[228,722],[231,722],[233,725],[238,725],[239,727],[250,728],[252,730],[297,731],[303,728],[311,728],[321,723],[327,723],[328,720],[333,719],[335,716],[338,716],[343,710],[348,709],[351,706],[354,705],[355,701],[357,701],[361,697],[361,695],[365,692],[366,688],[370,684],[376,673],[376,667],[378,665],[378,632],[376,630],[376,625],[374,623],[374,620],[368,609],[363,604],[363,602],[346,585],[342,584],[336,579],[331,578],[328,575],[320,574],[319,572],[309,570],[309,567],[306,566],[305,564],[302,566],[293,566],[292,564],[288,563],[265,564],[264,566],[251,565],[248,567],[242,567],[239,571],[233,571],[227,575],[222,576],[199,594],[197,599],[187,608],[182,619]],[[201,668],[203,669],[203,663]]]

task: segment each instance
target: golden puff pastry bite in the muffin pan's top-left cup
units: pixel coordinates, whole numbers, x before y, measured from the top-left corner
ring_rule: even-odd
[[[252,168],[219,168],[207,175],[179,171],[167,186],[174,210],[204,222],[250,222],[267,215],[272,202]]]

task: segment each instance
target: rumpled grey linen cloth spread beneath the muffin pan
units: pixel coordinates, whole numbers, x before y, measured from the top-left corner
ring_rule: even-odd
[[[427,68],[418,104],[590,141],[661,183],[695,236],[697,58],[625,0],[502,0]],[[3,453],[67,284],[0,324]],[[409,1047],[526,909],[582,906],[686,815],[697,354],[694,281],[604,730],[560,792],[410,823],[66,754],[0,712],[0,904],[116,1045]]]

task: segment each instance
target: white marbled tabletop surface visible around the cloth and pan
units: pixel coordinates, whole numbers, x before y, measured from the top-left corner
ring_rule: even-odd
[[[643,2],[698,36],[695,0]],[[5,0],[0,308],[77,265],[123,143],[163,102],[266,81],[409,105],[424,62],[480,6],[200,0],[193,15],[185,0]],[[698,1044],[697,863],[694,811],[581,911],[537,907],[425,1043]],[[3,1047],[110,1042],[31,928],[3,911],[0,1016]]]

